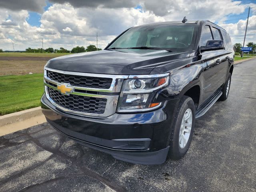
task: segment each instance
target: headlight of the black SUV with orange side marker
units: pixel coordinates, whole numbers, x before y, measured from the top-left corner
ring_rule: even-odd
[[[157,92],[168,86],[170,74],[129,76],[124,80],[118,101],[118,112],[142,112],[162,106],[154,102]]]

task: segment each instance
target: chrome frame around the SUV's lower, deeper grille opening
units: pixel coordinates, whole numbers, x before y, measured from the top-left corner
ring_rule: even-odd
[[[50,85],[46,85],[45,86],[45,94],[46,94],[46,98],[54,105],[56,106],[56,108],[70,113],[70,114],[77,114],[77,115],[86,115],[86,116],[97,116],[97,117],[108,117],[112,114],[114,114],[116,112],[116,106],[117,106],[117,102],[118,102],[118,97],[119,96],[106,96],[106,95],[97,95],[98,98],[106,98],[107,99],[107,103],[106,103],[106,108],[103,114],[97,114],[97,113],[87,113],[87,112],[80,112],[80,111],[74,111],[74,110],[69,110],[67,108],[64,108],[62,106],[59,106],[58,104],[56,104],[56,102],[54,102],[54,100],[52,100],[52,98],[50,98],[49,93],[48,93],[48,87],[52,88],[52,89],[57,89],[53,86]],[[70,94],[74,94],[70,93]],[[77,94],[77,93],[75,93]],[[82,96],[91,96],[94,97],[95,95],[93,94],[84,94],[84,93],[78,93],[79,95]]]

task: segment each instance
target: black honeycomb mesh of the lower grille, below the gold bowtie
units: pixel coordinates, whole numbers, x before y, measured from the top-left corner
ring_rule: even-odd
[[[48,87],[50,98],[59,106],[68,110],[103,114],[106,108],[106,98],[86,97],[80,95],[63,95],[58,90]]]

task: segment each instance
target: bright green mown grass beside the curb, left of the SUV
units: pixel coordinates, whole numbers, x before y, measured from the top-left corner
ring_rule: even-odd
[[[0,115],[40,106],[43,74],[0,76]]]

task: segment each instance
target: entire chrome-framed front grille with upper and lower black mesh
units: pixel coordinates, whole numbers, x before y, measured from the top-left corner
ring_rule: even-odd
[[[45,93],[59,110],[70,114],[107,117],[116,112],[127,75],[90,74],[44,68]],[[62,92],[61,86],[70,88]]]

